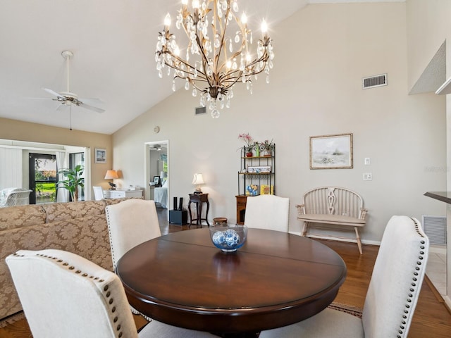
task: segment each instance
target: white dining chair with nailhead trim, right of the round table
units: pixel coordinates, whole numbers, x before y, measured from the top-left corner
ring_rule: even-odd
[[[293,325],[261,332],[260,338],[406,338],[428,261],[429,239],[418,220],[388,221],[366,293],[362,319],[326,308]]]

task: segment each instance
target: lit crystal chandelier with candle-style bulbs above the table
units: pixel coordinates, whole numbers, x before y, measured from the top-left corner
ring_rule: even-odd
[[[257,75],[264,72],[269,82],[273,46],[263,20],[257,51],[251,51],[252,31],[247,27],[244,13],[238,18],[237,0],[190,2],[188,6],[188,0],[182,0],[175,22],[178,30],[182,29],[187,35],[186,56],[180,56],[175,35],[169,32],[171,16],[168,13],[156,43],[156,70],[159,77],[163,77],[165,67],[168,76],[173,70],[173,91],[176,78],[185,80],[185,89],[192,89],[192,96],[199,92],[201,106],[208,103],[211,116],[218,118],[218,108],[230,107],[235,83],[246,84],[252,94],[252,77],[257,79]],[[235,36],[230,37],[228,33]]]

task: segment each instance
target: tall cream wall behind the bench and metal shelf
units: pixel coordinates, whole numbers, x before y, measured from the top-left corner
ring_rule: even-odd
[[[406,4],[309,5],[271,29],[271,82],[260,77],[252,95],[235,89],[220,118],[194,116],[198,98],[182,89],[113,134],[113,167],[123,170],[125,186],[146,186],[144,142],[168,139],[171,198],[186,200],[193,173],[204,173],[209,218],[235,222],[237,136],[249,132],[276,143],[276,193],[290,198],[292,232],[300,231],[295,204],[302,194],[329,184],[363,196],[364,242],[380,241],[391,215],[444,215],[423,194],[446,188],[445,99],[407,95]],[[362,89],[362,77],[381,73],[388,73],[387,87]],[[345,132],[354,134],[354,168],[310,170],[309,136]],[[373,180],[364,182],[363,173]]]

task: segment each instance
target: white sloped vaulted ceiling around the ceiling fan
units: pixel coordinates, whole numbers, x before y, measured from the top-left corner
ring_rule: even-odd
[[[252,19],[266,18],[275,25],[307,4],[366,1],[377,2],[238,0],[238,4],[254,27]],[[101,99],[100,104],[87,103],[105,109],[96,113],[74,106],[73,129],[115,132],[172,94],[170,80],[161,80],[156,73],[154,51],[164,16],[179,7],[180,0],[0,0],[0,117],[69,127],[69,108],[61,108],[42,90],[67,90],[61,52],[69,50],[74,54],[70,92]]]

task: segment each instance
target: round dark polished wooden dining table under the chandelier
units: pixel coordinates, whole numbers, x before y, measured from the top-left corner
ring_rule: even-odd
[[[130,304],[169,325],[249,337],[297,323],[326,308],[346,265],[307,237],[248,229],[247,242],[224,253],[209,228],[144,242],[118,261]]]

